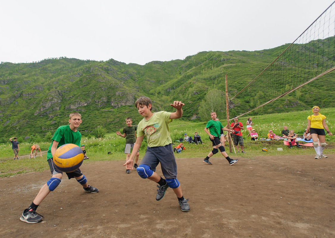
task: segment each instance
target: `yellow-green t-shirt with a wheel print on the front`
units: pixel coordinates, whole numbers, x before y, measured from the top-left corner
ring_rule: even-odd
[[[171,112],[154,112],[148,121],[144,118],[138,124],[137,137],[146,135],[148,147],[165,146],[172,143],[169,123]]]

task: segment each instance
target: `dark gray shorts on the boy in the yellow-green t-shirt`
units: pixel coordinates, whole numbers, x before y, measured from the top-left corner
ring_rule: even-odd
[[[148,165],[152,171],[160,163],[165,179],[177,178],[177,164],[171,144],[166,146],[147,147],[141,164]]]

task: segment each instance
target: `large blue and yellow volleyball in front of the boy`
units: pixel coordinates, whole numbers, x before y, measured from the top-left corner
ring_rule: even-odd
[[[84,153],[75,144],[65,144],[57,148],[53,161],[56,168],[63,172],[72,172],[80,167]]]

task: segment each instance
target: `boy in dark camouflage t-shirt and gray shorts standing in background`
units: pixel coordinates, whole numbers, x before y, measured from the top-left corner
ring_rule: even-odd
[[[134,148],[134,143],[136,142],[136,131],[137,131],[137,127],[136,126],[132,126],[131,124],[133,123],[133,121],[131,120],[130,117],[126,118],[126,124],[127,126],[123,128],[123,131],[121,134],[120,132],[116,132],[117,135],[126,138],[126,146],[125,146],[125,151],[124,153],[127,154],[126,155],[126,162],[129,160],[130,157],[130,151],[131,149]],[[138,167],[137,165],[137,161],[138,161],[138,156],[139,156],[139,152],[136,153],[135,156],[135,164],[134,164],[134,168],[136,169]],[[126,173],[130,173],[129,169],[126,169]]]

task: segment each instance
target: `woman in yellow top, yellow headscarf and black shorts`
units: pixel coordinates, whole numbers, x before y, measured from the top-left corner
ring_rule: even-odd
[[[315,159],[327,158],[327,156],[322,153],[323,149],[327,145],[325,142],[326,134],[324,129],[326,129],[329,136],[332,136],[333,134],[329,131],[328,126],[326,125],[326,116],[319,113],[320,107],[314,106],[312,108],[312,111],[313,115],[307,117],[307,128],[304,134],[306,136],[308,133],[311,133],[313,139],[313,147],[316,152]]]

